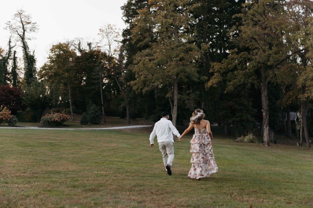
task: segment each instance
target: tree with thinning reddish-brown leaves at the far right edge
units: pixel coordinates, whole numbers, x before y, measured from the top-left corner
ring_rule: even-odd
[[[290,0],[286,4],[288,9],[288,22],[292,26],[293,36],[290,41],[293,50],[299,53],[293,55],[297,67],[297,85],[300,89],[301,126],[303,126],[308,148],[311,148],[307,128],[307,103],[313,98],[312,94],[312,32],[313,32],[313,2],[309,0]],[[301,127],[302,135],[302,127]]]

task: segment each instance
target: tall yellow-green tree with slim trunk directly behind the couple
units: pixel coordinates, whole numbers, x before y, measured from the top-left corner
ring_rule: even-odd
[[[168,86],[167,98],[171,104],[173,125],[176,126],[178,82],[198,79],[196,62],[201,53],[194,44],[194,31],[189,27],[189,23],[194,21],[191,12],[198,4],[153,0],[149,1],[149,5],[151,9],[138,11],[139,15],[132,23],[133,42],[149,44],[149,48],[134,57],[132,70],[136,80],[131,84],[144,92],[162,85]],[[157,37],[155,41],[152,41],[153,36]]]

